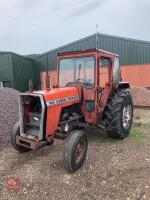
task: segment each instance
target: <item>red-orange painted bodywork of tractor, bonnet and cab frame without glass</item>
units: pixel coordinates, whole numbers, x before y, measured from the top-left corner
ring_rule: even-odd
[[[94,72],[94,87],[93,88],[85,88],[81,85],[67,86],[65,88],[54,88],[50,91],[42,90],[35,92],[37,94],[42,94],[45,102],[49,102],[52,100],[58,100],[66,97],[79,96],[79,100],[74,100],[70,102],[64,102],[57,105],[47,107],[47,121],[46,121],[46,137],[52,136],[57,131],[61,110],[64,107],[79,104],[81,106],[82,114],[84,115],[85,122],[90,124],[96,124],[98,120],[98,116],[105,109],[110,91],[112,89],[112,68],[113,62],[115,58],[115,54],[101,51],[101,50],[86,50],[86,51],[78,51],[78,52],[69,52],[69,53],[60,53],[57,58],[57,85],[59,83],[59,62],[60,59],[64,58],[77,58],[77,57],[85,57],[85,56],[93,56],[95,58],[95,72]],[[103,88],[103,92],[99,94],[99,89],[102,88],[100,85],[100,77],[99,77],[99,59],[101,57],[106,57],[110,60],[110,66],[108,68],[108,79],[105,82]],[[56,76],[56,74],[55,74]],[[82,97],[82,100],[80,99]],[[95,110],[93,112],[87,112],[85,109],[85,104],[87,101],[93,101],[95,105]]]

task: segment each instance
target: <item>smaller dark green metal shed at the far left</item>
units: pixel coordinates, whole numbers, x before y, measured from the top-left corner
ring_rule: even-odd
[[[0,53],[0,81],[8,80],[4,87],[27,91],[29,79],[34,81],[33,61],[29,58],[11,53]]]

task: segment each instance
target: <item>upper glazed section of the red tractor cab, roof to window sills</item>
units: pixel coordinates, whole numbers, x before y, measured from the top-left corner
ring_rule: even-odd
[[[57,69],[59,87],[75,83],[93,88],[121,81],[118,55],[98,49],[60,53]]]

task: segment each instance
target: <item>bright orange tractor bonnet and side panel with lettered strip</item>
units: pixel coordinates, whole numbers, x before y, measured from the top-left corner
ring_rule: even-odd
[[[77,87],[56,88],[43,94],[47,105],[46,138],[57,131],[62,108],[80,103]]]

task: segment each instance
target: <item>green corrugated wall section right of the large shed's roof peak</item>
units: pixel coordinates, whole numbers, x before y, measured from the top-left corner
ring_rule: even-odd
[[[150,63],[150,42],[115,36],[98,36],[99,48],[120,56],[121,65]]]

